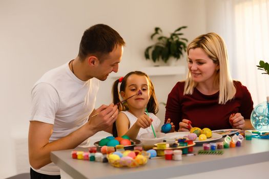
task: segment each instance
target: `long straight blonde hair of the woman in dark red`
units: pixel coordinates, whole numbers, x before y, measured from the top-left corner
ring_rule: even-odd
[[[224,40],[216,33],[208,33],[195,38],[187,47],[187,56],[190,49],[201,48],[214,63],[219,64],[217,77],[214,84],[219,83],[219,104],[225,104],[234,98],[236,88],[229,71],[229,61]],[[187,57],[188,59],[188,57]],[[192,80],[192,74],[189,70],[187,79],[185,80],[184,95],[192,94],[197,82]]]

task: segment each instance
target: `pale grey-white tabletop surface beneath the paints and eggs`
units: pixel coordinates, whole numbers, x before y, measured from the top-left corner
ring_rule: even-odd
[[[196,145],[193,153],[201,149],[201,145]],[[88,151],[88,148],[80,150]],[[182,161],[150,159],[136,168],[72,159],[71,151],[53,151],[51,160],[73,178],[169,178],[269,161],[269,140],[243,141],[241,147],[223,149],[222,155],[182,156]]]

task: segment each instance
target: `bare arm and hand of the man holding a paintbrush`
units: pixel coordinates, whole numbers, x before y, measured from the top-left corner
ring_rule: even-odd
[[[113,104],[109,106],[103,105],[96,111],[99,112],[99,114],[93,118],[90,116],[91,119],[84,126],[70,133],[70,135],[53,142],[49,142],[53,131],[52,124],[31,121],[28,135],[30,165],[35,169],[39,169],[51,163],[51,151],[77,147],[96,132],[111,126],[118,114],[117,106]]]

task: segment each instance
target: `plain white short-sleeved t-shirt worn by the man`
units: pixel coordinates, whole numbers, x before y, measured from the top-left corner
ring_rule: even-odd
[[[87,123],[99,89],[98,79],[81,81],[68,64],[45,73],[32,88],[30,121],[53,124],[50,142],[68,136]],[[49,175],[60,174],[54,163],[33,170]]]

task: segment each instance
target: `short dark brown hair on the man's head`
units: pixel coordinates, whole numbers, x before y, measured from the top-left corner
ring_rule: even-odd
[[[117,31],[104,24],[97,24],[87,29],[80,41],[78,57],[85,59],[89,54],[100,58],[117,46],[124,46],[125,41]]]

